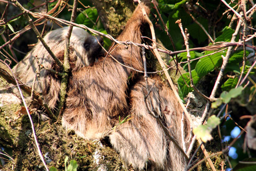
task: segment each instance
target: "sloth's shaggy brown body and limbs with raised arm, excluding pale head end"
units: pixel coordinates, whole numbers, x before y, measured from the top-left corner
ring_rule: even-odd
[[[144,8],[149,12],[146,6]],[[137,7],[117,39],[141,43],[140,27],[144,23],[141,8]],[[113,49],[112,55],[120,63],[132,65],[138,70],[143,69],[139,47],[116,45]],[[92,67],[83,67],[73,74],[62,125],[75,130],[84,139],[102,139],[118,124],[118,116],[124,119],[131,115],[131,120],[119,125],[109,135],[113,147],[119,151],[124,161],[139,169],[143,169],[147,160],[151,160],[156,170],[182,170],[185,163],[180,151],[166,138],[156,119],[146,110],[143,79],[137,78],[141,81],[130,87],[129,94],[126,92],[127,80],[136,76],[134,71],[121,66],[110,56],[105,59],[104,71],[102,63],[103,59]],[[156,82],[148,100],[152,101],[152,107],[170,135],[182,146],[182,111],[173,91],[157,79],[149,79],[148,82],[150,86]],[[168,112],[164,114],[164,110]]]

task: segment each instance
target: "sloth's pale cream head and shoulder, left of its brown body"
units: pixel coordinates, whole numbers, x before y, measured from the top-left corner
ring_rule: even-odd
[[[50,31],[44,37],[46,44],[60,61],[63,61],[67,31],[68,27],[63,27]],[[103,45],[101,37],[95,37],[81,28],[73,27],[70,37],[71,72],[77,71],[95,62],[98,55],[102,52],[98,42]],[[39,71],[40,64],[42,64],[44,68]],[[40,81],[35,82],[35,90],[42,93],[48,106],[54,109],[59,99],[60,78],[47,69],[59,71],[55,61],[41,42],[39,42],[12,70],[16,77],[24,83]],[[38,71],[40,80],[36,77]],[[32,84],[30,84],[30,86],[32,86]]]

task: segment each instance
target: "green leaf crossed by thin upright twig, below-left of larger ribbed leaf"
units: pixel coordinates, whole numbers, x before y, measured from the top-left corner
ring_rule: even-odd
[[[197,75],[197,72],[195,70],[192,70],[191,75],[192,75],[194,84],[197,85],[198,81],[200,80],[200,78]],[[184,78],[185,82],[189,87],[187,87],[182,77]],[[180,87],[183,97],[186,97],[189,92],[193,91],[193,88],[190,87],[189,73],[182,74],[182,77],[180,76],[180,78],[178,79],[178,85]]]

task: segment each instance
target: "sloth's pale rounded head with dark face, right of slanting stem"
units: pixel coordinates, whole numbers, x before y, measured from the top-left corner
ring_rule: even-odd
[[[62,58],[66,47],[68,27],[53,30],[44,37],[53,53]],[[93,36],[82,28],[73,27],[70,37],[70,61],[74,63],[73,70],[92,65],[102,55],[103,40]]]

